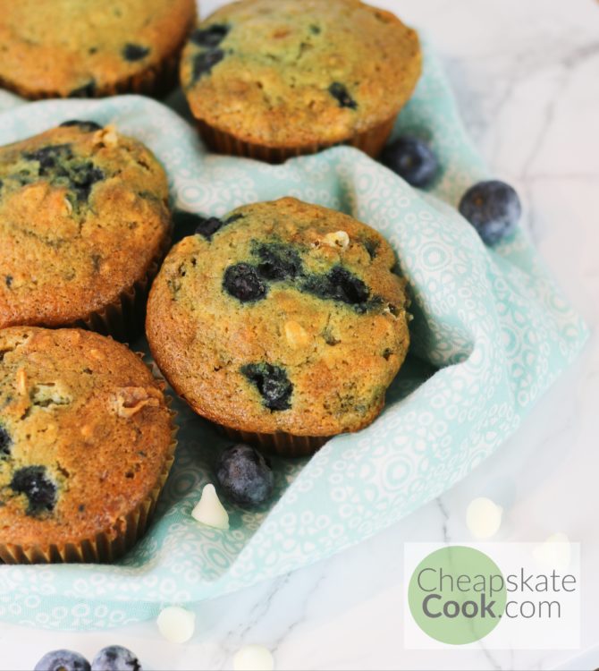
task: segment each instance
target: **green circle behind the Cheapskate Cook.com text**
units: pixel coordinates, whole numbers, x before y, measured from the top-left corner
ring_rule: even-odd
[[[474,548],[435,550],[409,580],[409,610],[436,641],[464,645],[480,641],[500,623],[507,590],[493,559]]]

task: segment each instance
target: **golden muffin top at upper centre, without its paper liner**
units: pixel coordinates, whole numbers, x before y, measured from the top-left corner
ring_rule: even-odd
[[[294,148],[388,121],[420,67],[416,32],[359,0],[242,0],[191,33],[181,81],[198,119]]]

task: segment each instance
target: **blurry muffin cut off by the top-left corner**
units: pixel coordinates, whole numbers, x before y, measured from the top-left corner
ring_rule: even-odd
[[[0,87],[24,98],[163,93],[195,15],[194,0],[0,0]]]

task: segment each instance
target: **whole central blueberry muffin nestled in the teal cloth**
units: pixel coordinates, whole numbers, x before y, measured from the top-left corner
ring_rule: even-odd
[[[194,411],[309,454],[383,409],[409,346],[395,267],[372,228],[292,198],[200,219],[152,286],[148,341]]]

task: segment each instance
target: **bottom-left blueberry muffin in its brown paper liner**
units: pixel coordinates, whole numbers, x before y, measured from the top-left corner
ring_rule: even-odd
[[[165,396],[124,345],[0,331],[0,560],[112,561],[145,530],[173,450]]]

